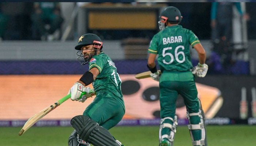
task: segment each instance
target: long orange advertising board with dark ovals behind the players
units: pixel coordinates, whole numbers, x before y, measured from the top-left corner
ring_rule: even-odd
[[[0,76],[2,84],[0,126],[22,126],[31,116],[67,95],[70,86],[79,77],[80,75]],[[120,77],[126,113],[118,125],[159,124],[158,82],[151,78],[138,80],[134,78],[134,74],[121,74]],[[207,124],[256,124],[256,117],[253,117],[252,112],[253,106],[250,104],[250,100],[253,99],[251,89],[255,82],[245,77],[242,82],[238,80],[233,84],[229,82],[232,78],[208,76],[204,79],[196,79],[198,97],[202,101]],[[240,116],[242,87],[247,91],[248,110],[245,119]],[[85,103],[68,100],[42,118],[35,126],[69,126],[69,120],[75,115],[81,115],[91,101],[93,98],[89,98]],[[177,99],[176,114],[180,119],[178,121],[180,125],[187,124],[185,105],[180,96]]]

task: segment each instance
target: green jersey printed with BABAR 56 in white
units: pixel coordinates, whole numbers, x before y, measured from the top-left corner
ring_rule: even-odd
[[[175,25],[154,35],[148,53],[158,54],[161,71],[184,72],[193,68],[189,46],[197,43],[199,39],[191,30]]]

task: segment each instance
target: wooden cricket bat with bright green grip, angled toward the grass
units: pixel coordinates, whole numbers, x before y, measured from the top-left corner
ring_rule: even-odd
[[[37,121],[42,119],[46,114],[48,114],[49,112],[54,110],[56,107],[58,107],[61,103],[69,99],[70,96],[71,95],[69,94],[63,97],[62,99],[56,101],[54,104],[50,105],[49,107],[46,107],[44,110],[38,112],[37,114],[29,118],[27,122],[24,124],[24,126],[22,127],[22,129],[19,131],[19,135],[22,135],[24,132],[26,132],[31,126],[33,126]]]

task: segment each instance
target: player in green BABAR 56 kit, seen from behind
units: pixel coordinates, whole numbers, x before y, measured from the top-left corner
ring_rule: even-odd
[[[173,146],[177,127],[176,100],[180,94],[187,108],[188,129],[193,146],[207,146],[204,112],[197,98],[195,76],[206,76],[206,53],[197,36],[182,28],[181,12],[176,7],[167,7],[160,15],[159,29],[148,49],[148,69],[150,76],[159,81],[160,116],[159,146]],[[198,54],[199,63],[193,68],[189,46]],[[157,57],[160,71],[157,70]]]

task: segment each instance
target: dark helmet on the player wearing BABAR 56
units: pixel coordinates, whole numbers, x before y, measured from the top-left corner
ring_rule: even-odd
[[[182,16],[181,16],[180,10],[178,8],[169,6],[163,10],[160,18],[162,18],[162,19],[167,18],[167,21],[169,21],[169,22],[177,22],[178,23],[181,21]]]

